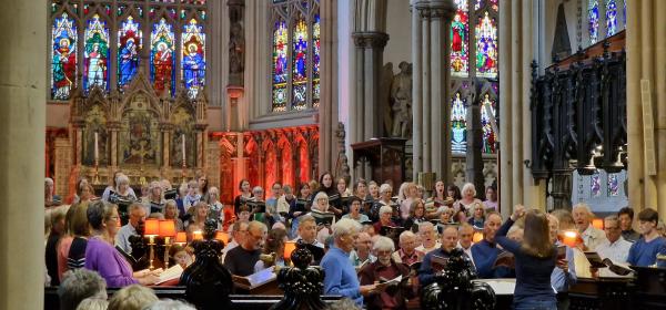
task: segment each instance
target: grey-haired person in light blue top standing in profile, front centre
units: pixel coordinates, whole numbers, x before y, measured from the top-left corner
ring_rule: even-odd
[[[350,261],[350,252],[359,238],[361,224],[350,218],[343,218],[333,225],[334,246],[322,258],[324,270],[324,294],[341,294],[363,306],[363,296],[381,293],[385,285],[361,286],[356,269]]]

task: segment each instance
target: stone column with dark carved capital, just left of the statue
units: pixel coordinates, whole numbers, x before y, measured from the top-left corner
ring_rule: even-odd
[[[383,135],[379,104],[380,73],[389,34],[362,31],[352,33],[352,38],[356,45],[356,105],[363,115],[361,122],[356,124],[362,132],[359,137],[361,141],[367,141]]]

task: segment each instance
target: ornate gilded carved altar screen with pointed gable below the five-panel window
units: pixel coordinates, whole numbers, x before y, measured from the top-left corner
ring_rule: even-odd
[[[74,90],[70,102],[72,172],[98,184],[108,184],[118,169],[133,185],[191,178],[205,166],[206,106],[204,92],[191,100],[183,86],[175,99],[168,93],[158,96],[143,72],[122,93]]]

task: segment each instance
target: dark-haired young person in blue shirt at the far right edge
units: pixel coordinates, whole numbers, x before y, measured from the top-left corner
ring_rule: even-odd
[[[627,262],[632,266],[648,267],[655,265],[657,255],[666,254],[666,239],[657,231],[659,214],[652,208],[638,214],[640,239],[632,245]]]

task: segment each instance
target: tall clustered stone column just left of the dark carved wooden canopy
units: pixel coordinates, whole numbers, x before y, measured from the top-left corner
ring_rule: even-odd
[[[500,198],[502,214],[514,205],[545,209],[545,182],[535,184],[524,162],[531,161],[531,66],[536,58],[533,0],[500,2]],[[538,14],[536,14],[538,16]]]

